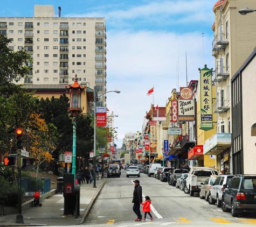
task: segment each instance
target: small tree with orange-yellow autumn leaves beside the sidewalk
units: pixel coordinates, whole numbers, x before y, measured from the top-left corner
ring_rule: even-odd
[[[27,146],[29,147],[32,158],[37,163],[38,176],[40,164],[44,161],[53,160],[52,152],[56,148],[57,128],[51,123],[46,124],[40,114],[31,113],[26,134],[28,138]]]

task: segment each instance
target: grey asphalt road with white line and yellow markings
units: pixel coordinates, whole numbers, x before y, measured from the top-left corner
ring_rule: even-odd
[[[153,222],[135,222],[133,212],[133,181],[139,179],[143,196],[149,196],[152,201],[151,214]],[[83,225],[90,226],[245,226],[256,225],[255,214],[246,214],[234,218],[231,213],[225,213],[216,205],[210,205],[200,200],[198,194],[190,196],[176,187],[169,186],[151,176],[141,173],[140,178],[126,178],[122,170],[121,178],[106,179],[90,215]],[[142,205],[141,205],[142,211]],[[143,214],[144,215],[144,214]],[[147,217],[149,218],[149,217]]]

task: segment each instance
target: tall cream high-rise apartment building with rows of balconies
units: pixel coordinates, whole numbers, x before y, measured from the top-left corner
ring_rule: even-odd
[[[34,17],[0,17],[0,34],[32,56],[33,70],[18,84],[72,84],[106,92],[105,18],[55,17],[53,5],[34,5]],[[98,102],[106,106],[106,96]]]

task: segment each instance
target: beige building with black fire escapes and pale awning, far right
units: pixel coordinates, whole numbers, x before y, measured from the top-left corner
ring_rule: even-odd
[[[221,4],[220,4],[221,3]],[[250,0],[217,1],[213,7],[215,22],[212,25],[212,41],[215,56],[213,82],[216,86],[216,100],[213,112],[216,113],[217,133],[206,141],[204,154],[217,155],[221,169],[225,173],[244,173],[241,168],[243,154],[234,151],[232,141],[231,78],[241,67],[255,47],[255,17],[241,16],[238,10],[250,7],[256,9],[256,2]],[[240,145],[239,145],[240,146]],[[205,147],[205,146],[204,146]],[[239,165],[238,165],[239,164]]]

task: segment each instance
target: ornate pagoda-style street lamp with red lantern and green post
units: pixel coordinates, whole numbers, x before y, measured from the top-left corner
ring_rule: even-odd
[[[72,119],[73,123],[73,152],[72,152],[72,174],[75,178],[75,150],[76,150],[76,132],[77,132],[77,119],[81,116],[81,91],[85,89],[85,87],[81,87],[80,84],[77,82],[77,74],[75,74],[75,80],[73,85],[70,85],[70,87],[67,87],[67,89],[70,89],[70,108],[68,108],[70,119]]]

